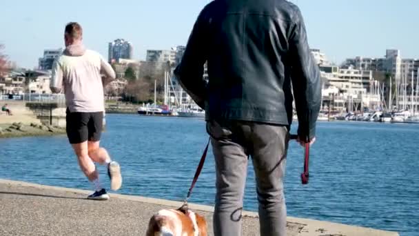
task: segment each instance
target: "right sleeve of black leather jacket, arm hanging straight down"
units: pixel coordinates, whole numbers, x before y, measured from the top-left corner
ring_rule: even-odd
[[[305,24],[297,10],[295,25],[289,37],[291,78],[296,111],[298,136],[311,139],[316,135],[316,121],[320,110],[321,81],[318,65],[314,62],[308,42]]]

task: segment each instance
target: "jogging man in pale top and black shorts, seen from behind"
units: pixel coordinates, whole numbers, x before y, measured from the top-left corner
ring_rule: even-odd
[[[122,184],[119,164],[99,146],[105,111],[101,73],[108,81],[115,79],[115,72],[98,52],[86,50],[82,39],[79,23],[65,26],[65,50],[52,66],[50,88],[52,92],[65,93],[68,140],[81,170],[94,184],[95,191],[88,199],[106,200],[109,195],[101,187],[94,162],[108,166],[112,190],[118,190]]]

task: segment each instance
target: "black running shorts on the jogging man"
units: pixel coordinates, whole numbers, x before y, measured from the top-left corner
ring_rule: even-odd
[[[101,140],[103,112],[70,112],[65,117],[70,144]]]

